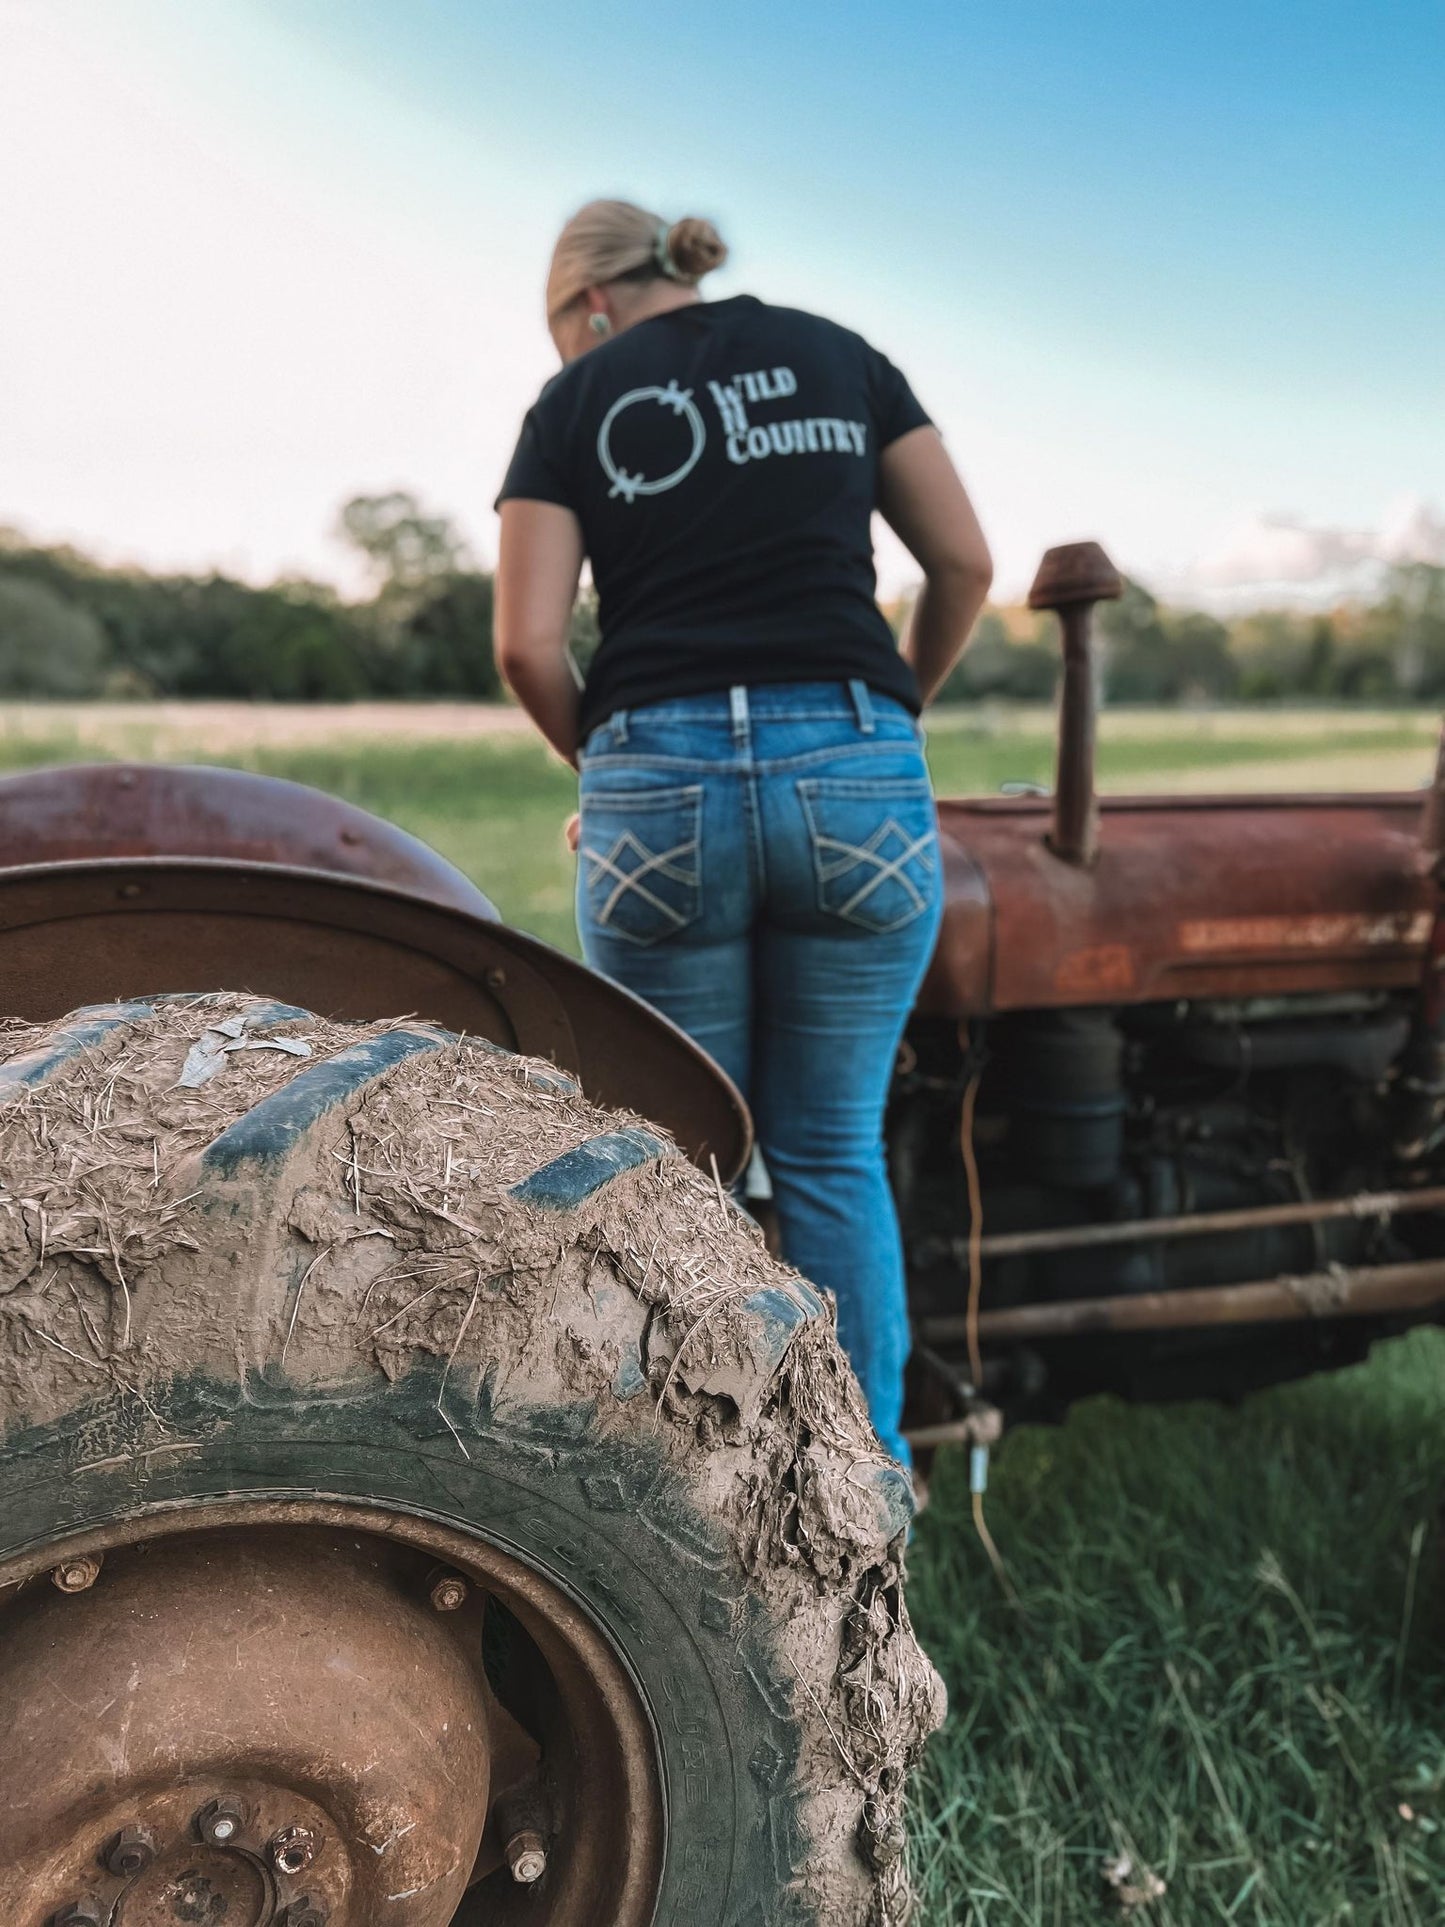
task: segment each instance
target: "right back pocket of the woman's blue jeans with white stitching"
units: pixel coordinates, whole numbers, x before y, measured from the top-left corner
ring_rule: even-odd
[[[821,911],[884,933],[934,904],[938,817],[927,777],[813,777],[798,798]]]

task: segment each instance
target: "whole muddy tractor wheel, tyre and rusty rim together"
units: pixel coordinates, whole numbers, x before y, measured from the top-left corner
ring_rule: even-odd
[[[0,1031],[12,1927],[884,1927],[942,1688],[832,1318],[553,1066]]]

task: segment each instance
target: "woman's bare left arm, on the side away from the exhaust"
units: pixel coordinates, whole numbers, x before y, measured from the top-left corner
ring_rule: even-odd
[[[582,524],[551,501],[505,501],[493,634],[497,669],[553,750],[576,763],[578,686],[566,632],[582,578]]]

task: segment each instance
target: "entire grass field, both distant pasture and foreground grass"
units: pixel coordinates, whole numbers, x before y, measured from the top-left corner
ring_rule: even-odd
[[[1100,771],[1131,790],[1406,788],[1433,734],[1401,713],[1123,715]],[[495,713],[0,711],[0,767],[94,755],[337,790],[574,946],[574,782]],[[942,790],[1046,779],[1050,721],[944,719],[931,757]],[[1420,1332],[1239,1411],[1100,1399],[1021,1428],[988,1495],[1017,1607],[963,1461],[940,1459],[911,1594],[954,1705],[915,1811],[929,1927],[1119,1919],[1119,1852],[1164,1881],[1131,1915],[1154,1927],[1445,1921],[1443,1386],[1445,1335]]]

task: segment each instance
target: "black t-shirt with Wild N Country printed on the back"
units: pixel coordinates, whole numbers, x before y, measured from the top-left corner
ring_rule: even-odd
[[[499,503],[582,524],[601,626],[584,734],[734,682],[859,678],[917,711],[869,518],[879,451],[927,420],[859,335],[751,295],[655,314],[563,368]]]

